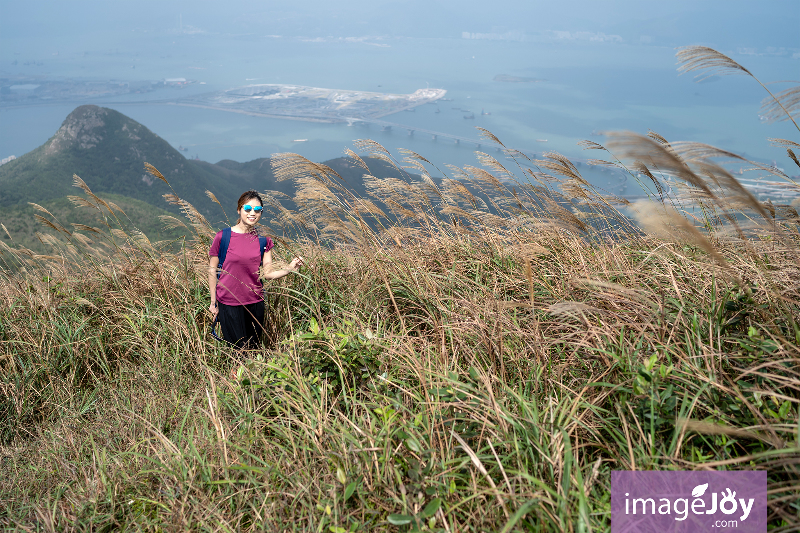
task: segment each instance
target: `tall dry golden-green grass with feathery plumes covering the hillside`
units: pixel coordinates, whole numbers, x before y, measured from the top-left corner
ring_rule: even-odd
[[[368,197],[277,156],[297,194],[268,195],[268,230],[308,267],[267,286],[244,354],[210,336],[208,221],[169,195],[175,253],[76,180],[107,227],[44,213],[51,254],[3,248],[0,524],[593,531],[612,469],[762,468],[796,530],[794,208],[652,132],[585,143],[643,180],[635,204],[483,133],[502,160],[465,168],[358,142]]]

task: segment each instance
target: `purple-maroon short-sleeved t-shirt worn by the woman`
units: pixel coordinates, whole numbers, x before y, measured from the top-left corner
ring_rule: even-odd
[[[219,257],[220,231],[208,250],[209,257]],[[267,247],[272,250],[272,240],[267,237]],[[261,246],[258,235],[253,233],[231,232],[231,242],[225,255],[222,274],[217,280],[217,301],[225,305],[248,305],[263,300],[261,280],[258,279],[258,268],[261,266],[259,253]]]

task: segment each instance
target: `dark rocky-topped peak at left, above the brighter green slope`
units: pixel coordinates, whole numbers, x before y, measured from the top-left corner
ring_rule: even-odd
[[[187,160],[142,124],[112,109],[86,105],[70,113],[44,145],[0,167],[0,206],[75,194],[72,175],[77,174],[95,193],[169,209],[162,195],[170,188],[144,172],[145,162],[155,165],[203,214],[217,212],[206,190],[231,202],[235,191],[259,185],[252,176],[235,172],[221,181],[219,172]]]

